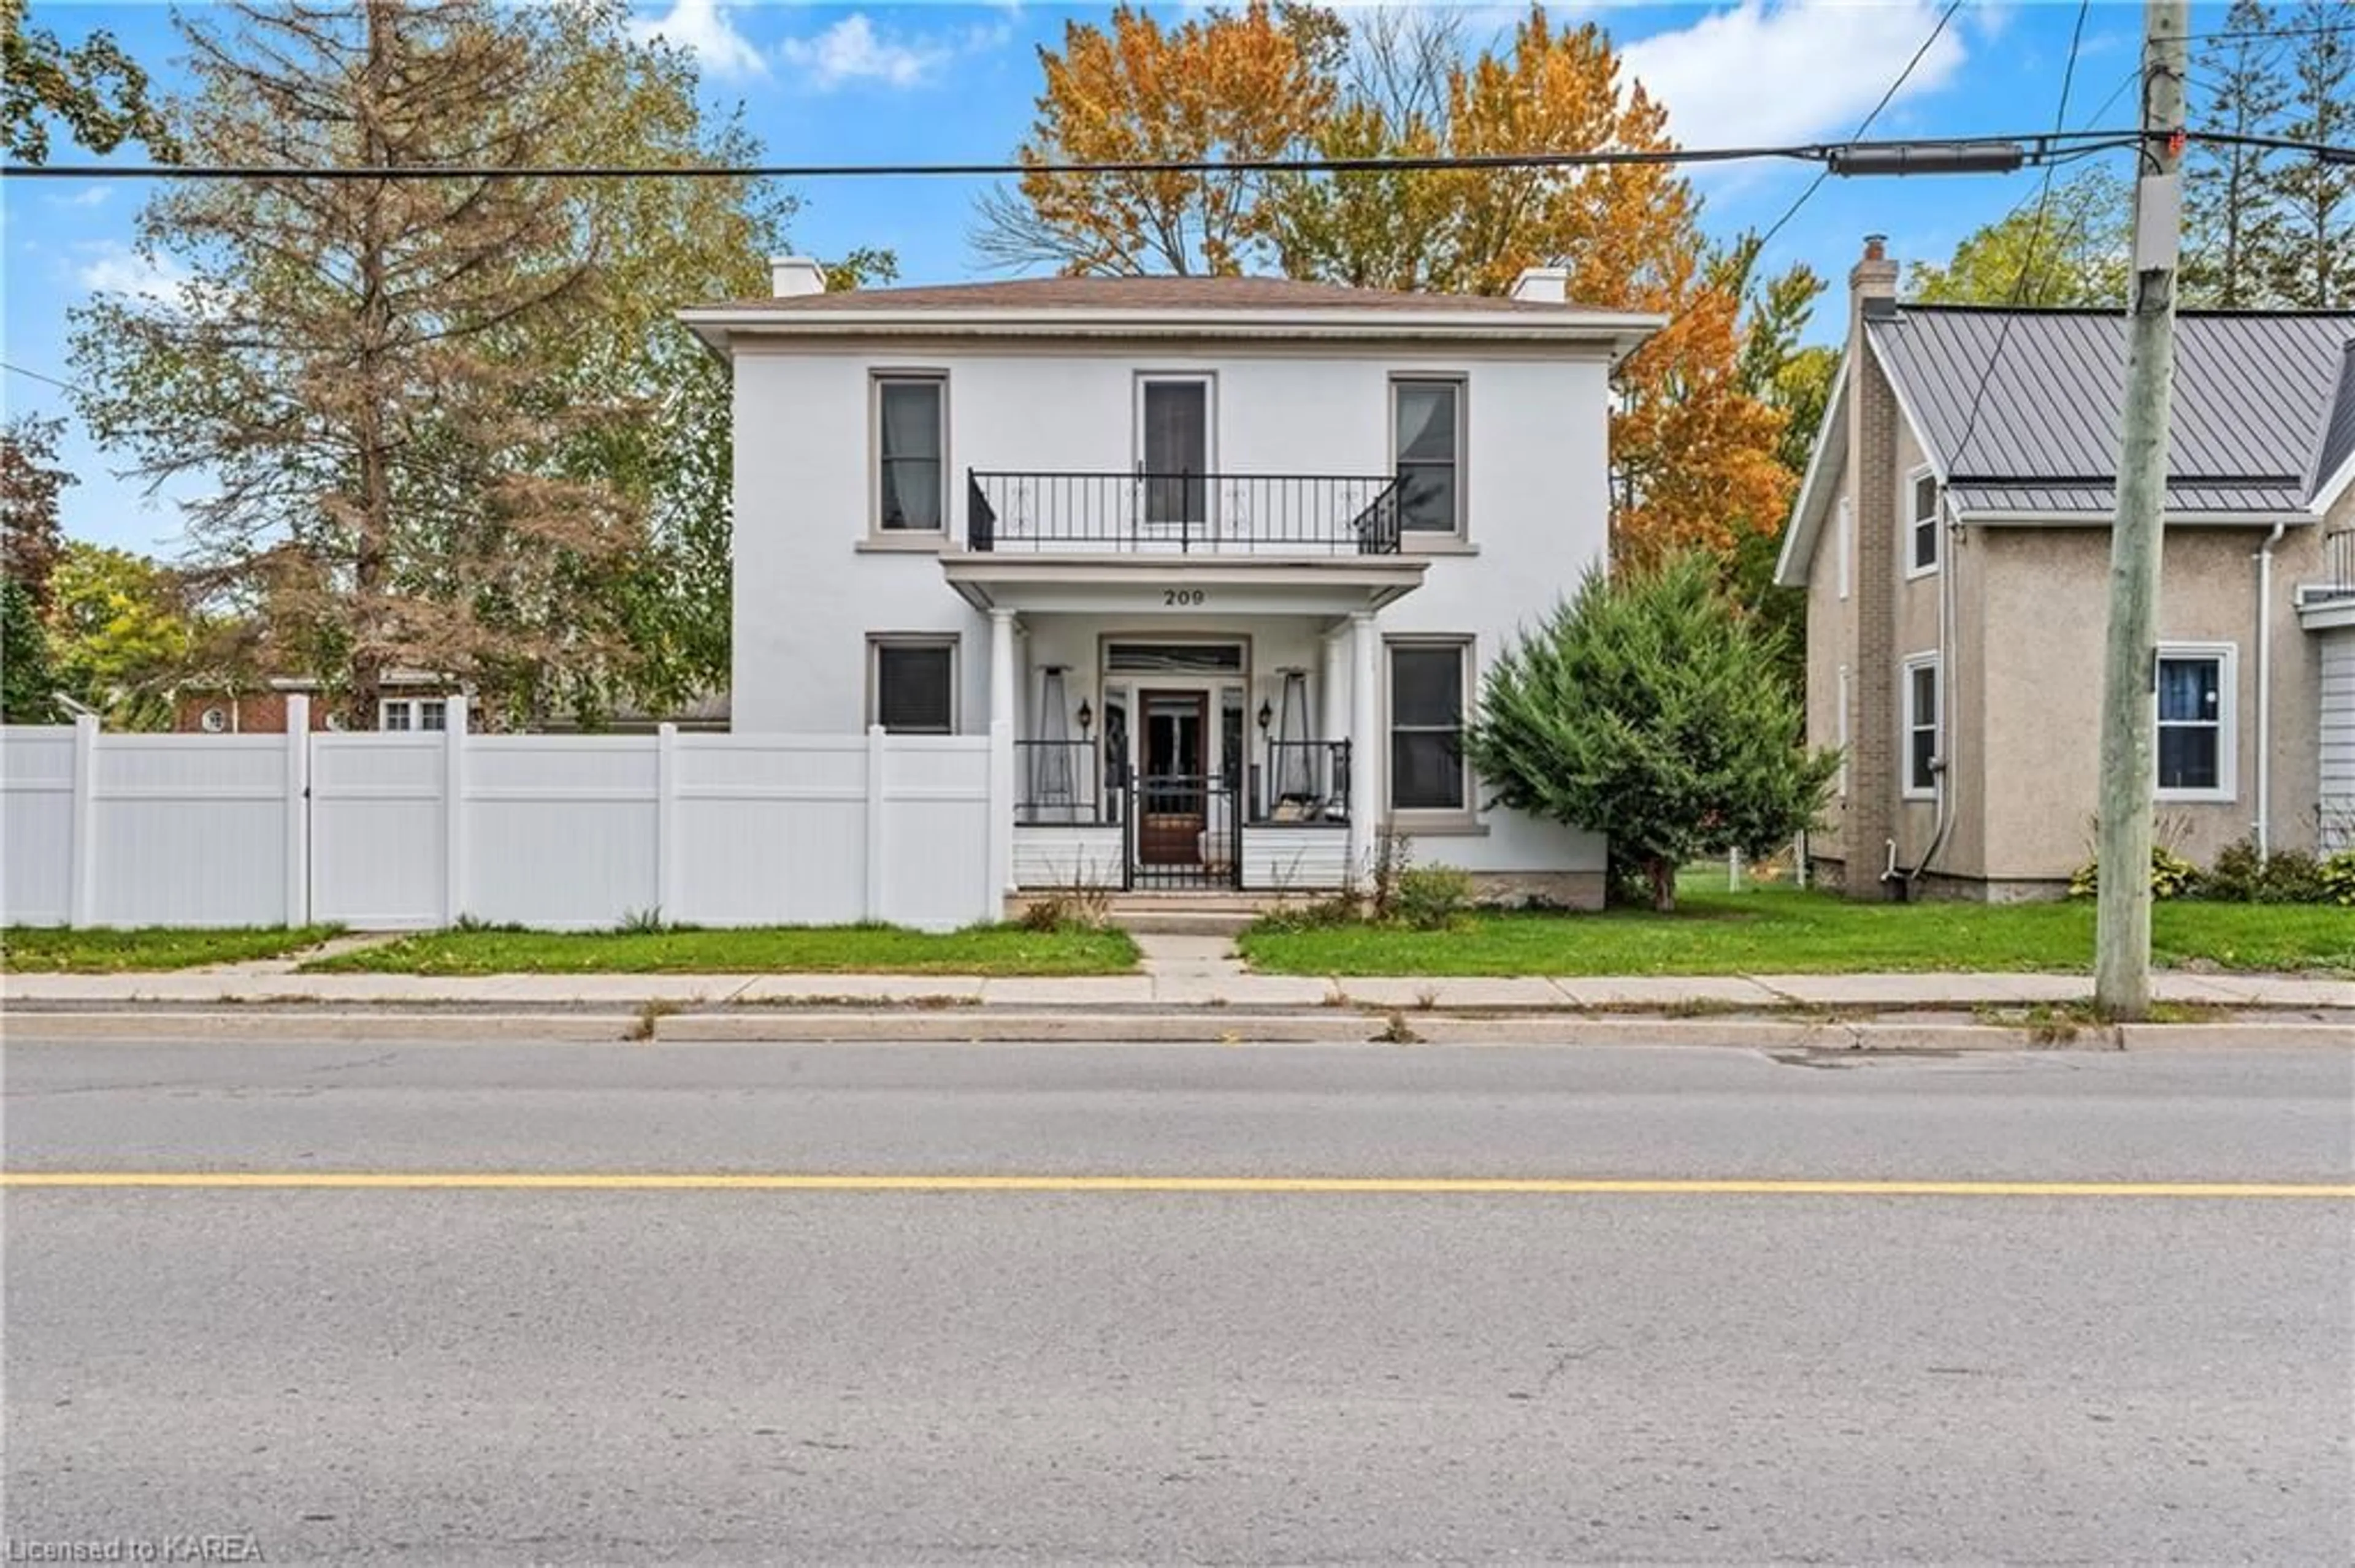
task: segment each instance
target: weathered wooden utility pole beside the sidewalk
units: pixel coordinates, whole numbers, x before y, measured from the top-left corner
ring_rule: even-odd
[[[2143,141],[2134,179],[2127,412],[2117,438],[2117,523],[2110,530],[2110,640],[2101,678],[2101,897],[2094,928],[2094,1001],[2122,1019],[2150,1012],[2150,789],[2157,782],[2160,546],[2176,384],[2188,33],[2188,0],[2143,5]]]

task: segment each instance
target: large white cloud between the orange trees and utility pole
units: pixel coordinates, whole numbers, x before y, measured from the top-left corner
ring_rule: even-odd
[[[1846,137],[1938,26],[1933,0],[1740,0],[1620,49],[1630,78],[1667,104],[1684,146]],[[1957,28],[1938,33],[1891,108],[1955,80]],[[1884,111],[1886,113],[1886,111]],[[1875,125],[1875,132],[1886,122]]]

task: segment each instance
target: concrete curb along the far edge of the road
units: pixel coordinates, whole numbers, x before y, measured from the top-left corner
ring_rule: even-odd
[[[1189,1008],[1161,1015],[1104,1012],[904,1012],[860,1008],[848,1012],[671,1012],[645,1019],[638,1012],[360,1012],[313,1010],[259,1012],[252,1008],[137,1012],[16,1012],[9,1043],[320,1043],[382,1041],[405,1045],[551,1043],[551,1045],[1540,1045],[1540,1048],[1660,1048],[1705,1045],[1736,1050],[1851,1055],[1966,1050],[2164,1050],[2164,1048],[2273,1048],[2350,1050],[2355,1031],[2343,1024],[2120,1024],[2079,1029],[2051,1038],[2009,1024],[1959,1022],[1823,1022],[1759,1017],[1627,1017],[1545,1015],[1465,1017],[1446,1012],[1399,1015],[1406,1038],[1389,1038],[1385,1017],[1361,1012],[1229,1012]],[[652,1022],[652,1038],[645,1026]]]

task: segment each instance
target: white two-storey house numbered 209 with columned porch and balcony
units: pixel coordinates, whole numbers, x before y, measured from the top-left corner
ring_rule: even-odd
[[[1008,735],[1020,888],[1335,888],[1394,829],[1601,902],[1601,838],[1491,810],[1460,730],[1604,558],[1658,318],[1559,271],[772,283],[681,313],[735,365],[737,732]]]

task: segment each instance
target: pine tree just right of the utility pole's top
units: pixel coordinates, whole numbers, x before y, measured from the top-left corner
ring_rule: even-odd
[[[2263,0],[2233,0],[2218,38],[2202,45],[2193,66],[2204,89],[2200,129],[2282,134],[2289,49],[2275,26]],[[2263,148],[2218,141],[2193,141],[2185,162],[2185,299],[2223,308],[2270,304],[2287,238],[2277,167]]]

